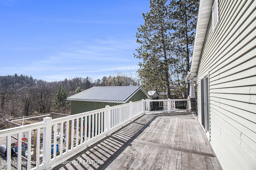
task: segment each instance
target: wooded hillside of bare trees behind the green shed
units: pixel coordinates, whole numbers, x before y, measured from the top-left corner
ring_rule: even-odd
[[[98,80],[75,77],[54,82],[17,74],[0,76],[0,129],[5,129],[5,120],[9,118],[49,112],[70,114],[66,97],[93,86],[131,85],[139,85],[139,82],[119,72]]]

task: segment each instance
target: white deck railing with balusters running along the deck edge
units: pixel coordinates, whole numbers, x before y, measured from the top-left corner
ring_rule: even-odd
[[[58,119],[45,117],[40,123],[4,129],[0,131],[0,138],[6,137],[6,168],[17,166],[20,170],[26,166],[28,170],[47,170],[144,113],[189,108],[189,99],[141,100]],[[24,137],[26,141],[22,141]],[[13,147],[16,156],[11,157]]]

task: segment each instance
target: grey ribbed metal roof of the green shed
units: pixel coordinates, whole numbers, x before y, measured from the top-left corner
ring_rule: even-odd
[[[100,86],[74,94],[68,97],[67,100],[125,103],[139,90],[142,90],[148,96],[142,86]]]

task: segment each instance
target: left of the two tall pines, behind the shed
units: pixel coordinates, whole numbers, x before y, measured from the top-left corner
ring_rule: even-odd
[[[145,23],[136,33],[137,43],[141,46],[136,49],[138,54],[134,54],[134,57],[143,59],[138,70],[142,84],[151,87],[151,90],[159,90],[159,85],[165,84],[167,97],[170,98],[170,22],[166,2],[167,0],[150,0],[150,11],[142,14]]]

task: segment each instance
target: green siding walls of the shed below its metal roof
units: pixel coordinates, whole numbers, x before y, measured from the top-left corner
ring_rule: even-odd
[[[136,92],[126,103],[136,102],[142,99],[148,98],[141,90]],[[117,106],[122,103],[110,103],[110,102],[89,102],[89,101],[71,101],[71,114],[83,113],[86,111],[102,109],[108,106]]]

